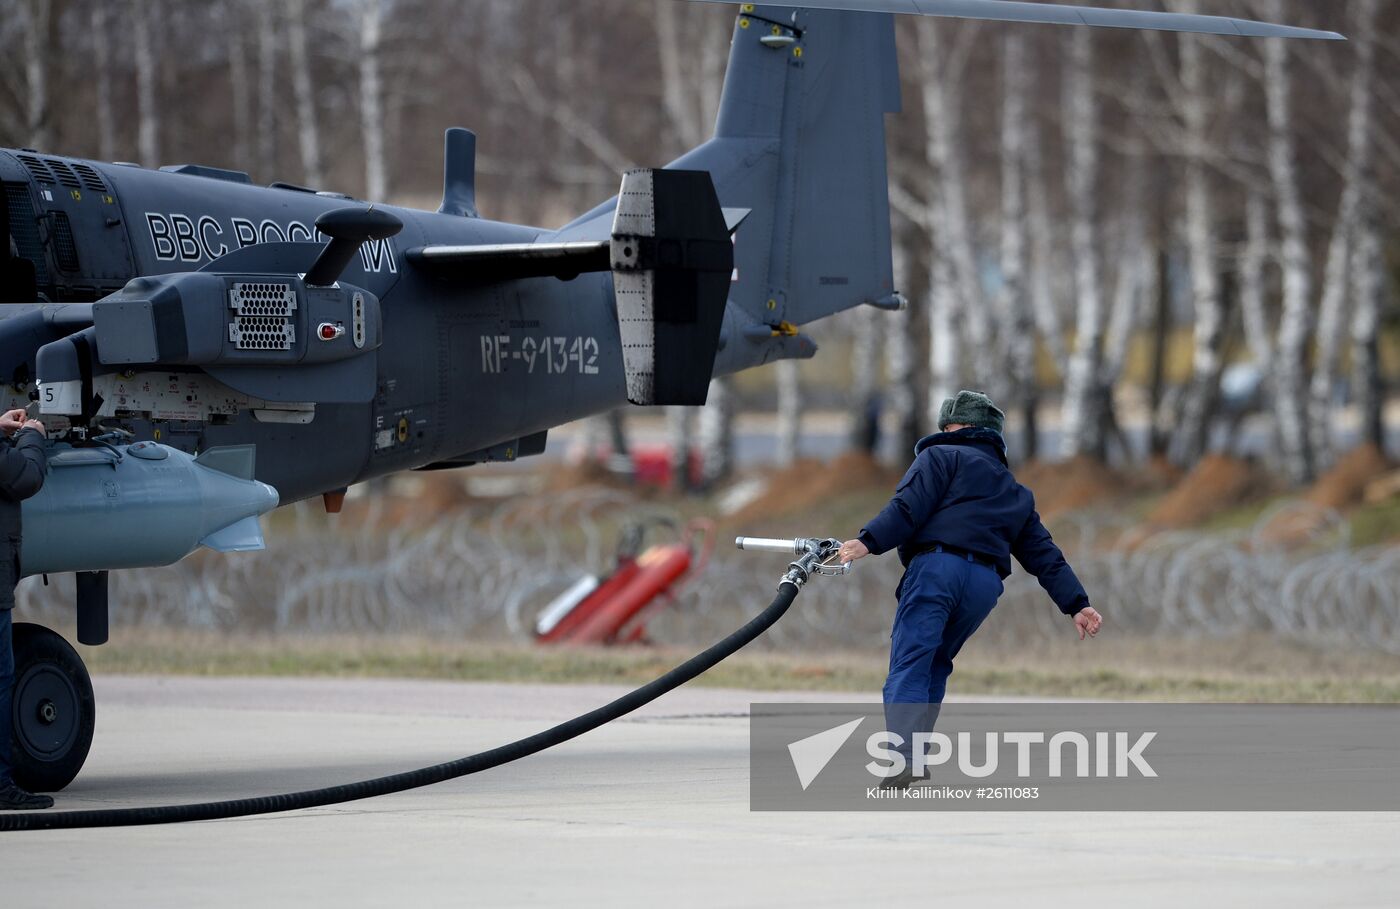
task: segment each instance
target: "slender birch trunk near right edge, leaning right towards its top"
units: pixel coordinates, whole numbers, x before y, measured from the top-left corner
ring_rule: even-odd
[[[1317,469],[1333,459],[1333,412],[1340,367],[1341,346],[1347,331],[1348,279],[1352,265],[1352,240],[1361,216],[1361,193],[1371,172],[1372,148],[1372,74],[1375,71],[1376,4],[1365,0],[1357,4],[1355,32],[1357,62],[1351,73],[1351,113],[1347,122],[1347,164],[1344,185],[1337,204],[1337,221],[1327,247],[1327,266],[1323,272],[1322,305],[1317,312],[1316,360],[1312,375],[1312,450]]]

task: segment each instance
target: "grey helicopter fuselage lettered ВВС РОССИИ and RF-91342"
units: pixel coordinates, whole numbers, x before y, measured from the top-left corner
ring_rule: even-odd
[[[41,161],[57,176],[38,179],[38,168],[27,169],[17,155]],[[258,272],[262,251],[298,252],[286,249],[287,244],[300,247],[309,262],[325,245],[314,227],[316,218],[357,204],[343,196],[253,186],[238,175],[87,161],[71,162],[83,168],[76,171],[64,169],[66,161],[0,153],[11,214],[15,197],[28,193],[41,224],[52,224],[62,213],[71,231],[76,256],[63,262],[48,256],[46,275],[38,279],[53,303],[87,303],[137,276],[221,269],[239,258],[249,263],[246,270]],[[49,168],[49,162],[56,164]],[[78,186],[60,182],[70,172]],[[407,251],[438,244],[529,244],[546,231],[378,207],[399,217],[403,231],[365,244],[342,276],[379,298],[384,340],[363,354],[374,360],[372,399],[316,403],[305,424],[265,423],[241,412],[209,420],[118,416],[104,419],[102,426],[186,451],[256,445],[258,479],[288,503],[403,469],[514,458],[517,440],[626,403],[610,273],[574,280],[444,280],[412,266]],[[88,270],[90,261],[94,268]],[[283,370],[281,378],[293,385],[302,381],[295,368]],[[312,392],[305,396],[316,399]],[[490,451],[497,445],[504,448]]]

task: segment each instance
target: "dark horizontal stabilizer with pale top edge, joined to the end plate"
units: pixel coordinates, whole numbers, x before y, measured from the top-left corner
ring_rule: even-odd
[[[609,256],[608,241],[419,247],[407,254],[409,262],[419,268],[483,284],[525,277],[568,280],[587,272],[609,270]]]

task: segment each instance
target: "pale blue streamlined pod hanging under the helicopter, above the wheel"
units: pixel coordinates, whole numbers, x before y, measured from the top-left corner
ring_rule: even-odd
[[[143,441],[49,451],[39,494],[24,503],[24,576],[174,564],[199,546],[263,549],[258,517],[277,490],[252,479],[253,448],[197,458]]]

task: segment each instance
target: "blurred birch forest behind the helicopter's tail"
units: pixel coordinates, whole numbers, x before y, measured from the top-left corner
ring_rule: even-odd
[[[482,137],[482,204],[556,225],[622,169],[701,143],[732,10],[671,0],[7,0],[0,143],[203,162],[433,206],[441,134]],[[1168,0],[1350,42],[902,20],[890,119],[900,315],[816,326],[815,366],[717,384],[734,410],[850,415],[895,459],[951,391],[1018,459],[1264,455],[1295,485],[1386,443],[1400,361],[1400,4]],[[1250,415],[1253,434],[1240,427]],[[672,415],[686,438],[690,416]],[[1379,461],[1373,457],[1372,461]],[[685,472],[678,475],[683,476]]]

